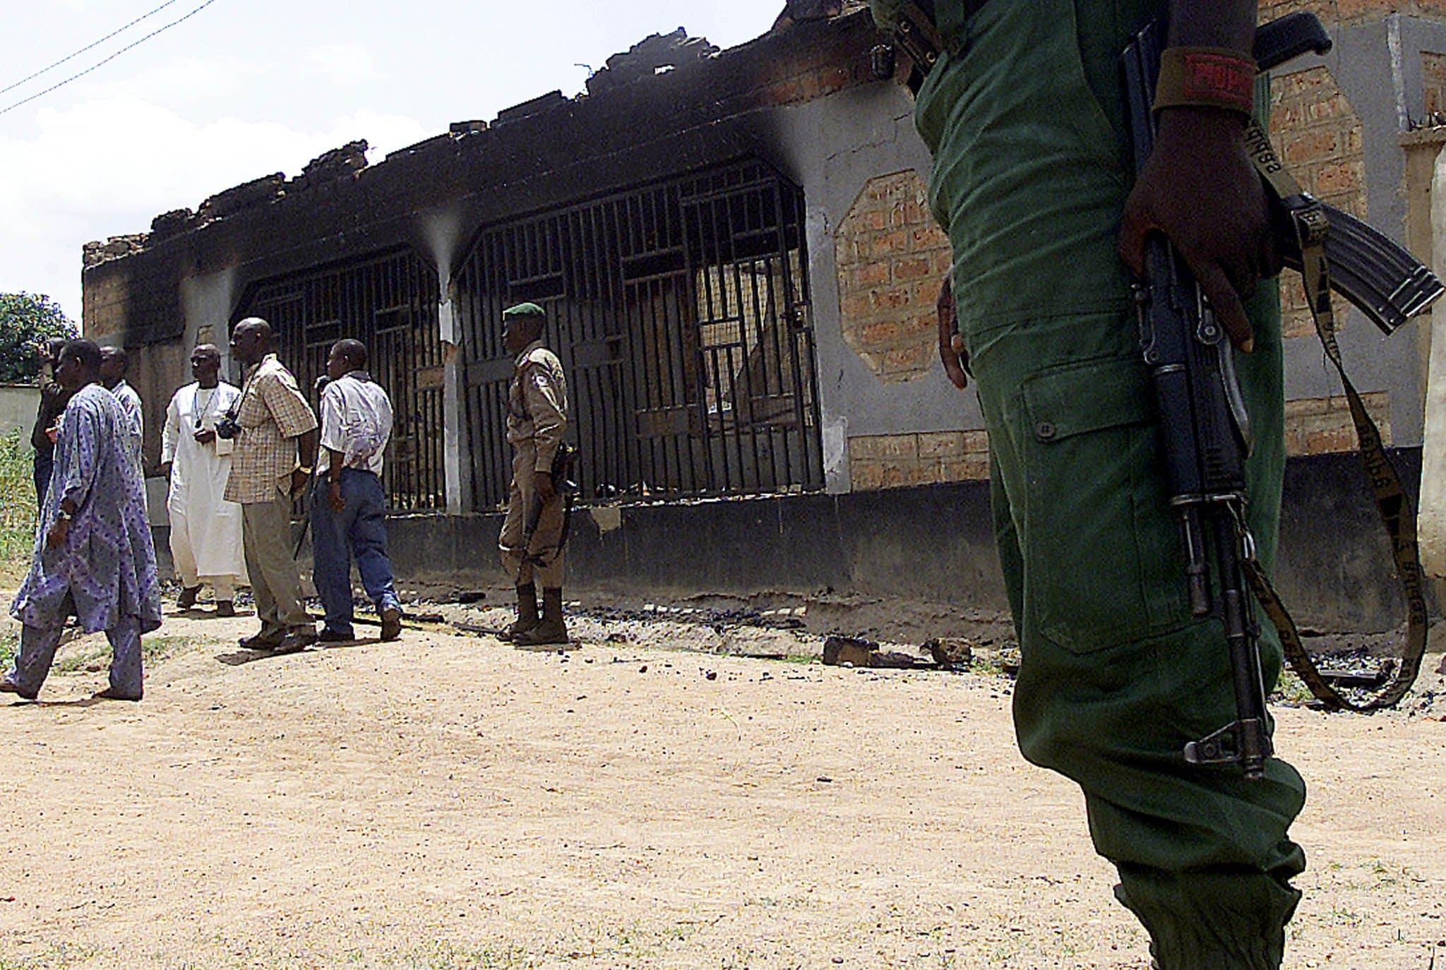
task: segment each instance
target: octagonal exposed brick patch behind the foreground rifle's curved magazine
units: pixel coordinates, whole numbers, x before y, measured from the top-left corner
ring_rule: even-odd
[[[1366,218],[1361,117],[1330,71],[1319,66],[1274,78],[1270,130],[1301,188],[1356,218]],[[1297,273],[1281,276],[1280,298],[1285,335],[1313,334]]]

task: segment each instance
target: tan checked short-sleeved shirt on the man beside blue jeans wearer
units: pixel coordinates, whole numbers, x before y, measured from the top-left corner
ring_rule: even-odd
[[[247,374],[236,422],[241,434],[231,455],[226,500],[275,502],[276,492],[291,490],[286,480],[299,464],[296,438],[317,426],[317,415],[276,354],[266,354]]]

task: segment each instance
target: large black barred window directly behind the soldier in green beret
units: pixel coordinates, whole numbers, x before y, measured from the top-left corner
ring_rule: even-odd
[[[457,273],[473,505],[508,500],[502,311],[548,311],[584,497],[823,487],[803,192],[768,165],[484,228]]]

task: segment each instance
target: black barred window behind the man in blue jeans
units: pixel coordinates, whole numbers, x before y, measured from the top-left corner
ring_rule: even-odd
[[[367,345],[372,377],[392,399],[392,441],[383,486],[396,512],[447,507],[442,461],[442,345],[437,270],[411,250],[262,280],[233,325],[262,317],[276,353],[317,406],[311,387],[343,337]]]

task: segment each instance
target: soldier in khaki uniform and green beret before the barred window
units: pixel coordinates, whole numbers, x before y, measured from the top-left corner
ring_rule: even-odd
[[[512,492],[497,546],[502,565],[518,585],[518,622],[506,636],[519,649],[567,643],[562,623],[562,496],[552,481],[552,458],[567,432],[567,377],[562,363],[542,345],[547,314],[519,304],[502,314],[502,345],[513,356],[508,387],[508,441],[512,442]],[[538,509],[534,509],[534,503]],[[536,529],[526,538],[529,518]],[[542,584],[538,616],[536,584]]]

